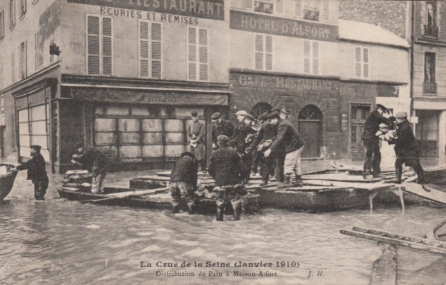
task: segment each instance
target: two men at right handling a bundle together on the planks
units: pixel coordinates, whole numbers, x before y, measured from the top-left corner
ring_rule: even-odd
[[[375,110],[369,114],[365,121],[364,132],[362,132],[365,151],[364,170],[362,172],[364,179],[369,178],[369,176],[374,178],[380,176],[381,153],[376,133],[380,130],[380,124],[385,124],[396,130],[396,137],[387,141],[388,144],[394,144],[394,151],[397,155],[395,160],[396,182],[401,183],[403,164],[406,164],[407,167],[413,167],[418,176],[417,183],[423,184],[425,182],[424,171],[420,164],[420,148],[418,148],[407,116],[406,112],[397,112],[392,116],[391,112],[380,104],[377,104]]]

